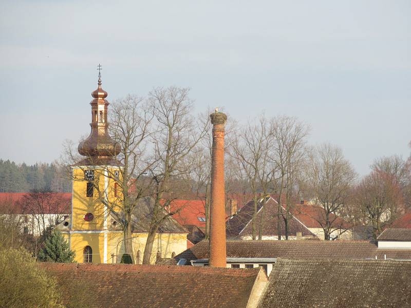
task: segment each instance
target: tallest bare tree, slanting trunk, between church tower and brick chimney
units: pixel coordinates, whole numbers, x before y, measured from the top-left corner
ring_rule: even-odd
[[[196,148],[206,134],[206,126],[195,121],[192,101],[186,88],[155,88],[150,92],[150,103],[154,110],[157,131],[151,137],[154,155],[148,174],[153,180],[154,208],[150,229],[144,248],[143,264],[150,263],[156,232],[161,223],[172,212],[164,211],[172,201],[168,194],[173,179],[179,179],[190,172],[184,159]]]

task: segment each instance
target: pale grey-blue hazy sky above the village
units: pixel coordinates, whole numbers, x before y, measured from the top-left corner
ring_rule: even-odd
[[[191,88],[223,107],[310,125],[360,175],[411,149],[409,1],[2,1],[0,159],[52,162],[108,101]]]

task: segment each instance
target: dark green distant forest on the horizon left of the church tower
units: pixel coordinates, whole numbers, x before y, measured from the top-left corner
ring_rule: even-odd
[[[55,164],[16,164],[0,159],[0,192],[47,190],[71,192],[71,181]]]

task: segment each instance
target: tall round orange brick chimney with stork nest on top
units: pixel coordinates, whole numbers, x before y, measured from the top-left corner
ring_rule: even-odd
[[[226,267],[226,206],[224,187],[224,127],[227,115],[210,114],[213,124],[213,152],[211,161],[210,259],[213,267]]]

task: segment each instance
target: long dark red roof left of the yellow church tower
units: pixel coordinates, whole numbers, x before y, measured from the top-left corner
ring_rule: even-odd
[[[39,195],[42,193],[38,193]],[[69,192],[47,193],[47,201],[39,206],[27,204],[30,192],[0,192],[0,213],[2,214],[70,214],[71,194]]]

